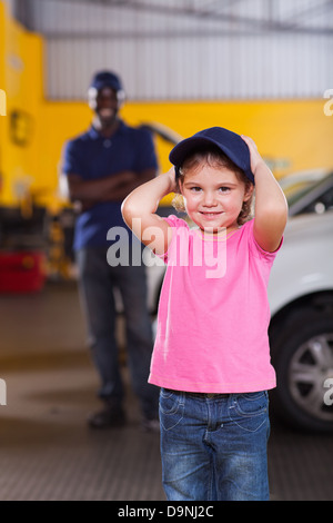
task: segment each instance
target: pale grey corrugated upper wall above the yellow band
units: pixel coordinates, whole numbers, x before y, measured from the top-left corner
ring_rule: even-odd
[[[101,68],[132,100],[322,98],[333,86],[332,2],[28,1],[49,99],[84,99]]]

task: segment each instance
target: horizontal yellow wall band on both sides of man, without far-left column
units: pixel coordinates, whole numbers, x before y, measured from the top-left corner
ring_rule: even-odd
[[[297,170],[333,168],[333,117],[325,116],[323,107],[323,100],[128,102],[122,116],[133,125],[162,124],[183,137],[216,125],[249,135],[280,178]],[[47,103],[42,116],[51,124],[50,134],[43,135],[50,171],[63,140],[85,129],[91,112],[85,103]],[[172,146],[158,138],[157,147],[161,170],[167,170]]]

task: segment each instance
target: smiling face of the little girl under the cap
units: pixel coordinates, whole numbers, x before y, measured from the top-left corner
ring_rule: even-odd
[[[243,201],[252,193],[253,187],[246,188],[229,168],[206,164],[189,169],[181,184],[189,217],[200,229],[211,233],[236,228]]]

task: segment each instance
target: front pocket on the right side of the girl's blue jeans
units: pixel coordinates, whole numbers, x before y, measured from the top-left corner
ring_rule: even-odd
[[[235,394],[229,408],[232,422],[249,432],[256,432],[268,425],[269,396],[266,391]]]

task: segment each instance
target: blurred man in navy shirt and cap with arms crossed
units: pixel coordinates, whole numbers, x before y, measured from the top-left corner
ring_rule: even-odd
[[[113,289],[117,287],[124,307],[132,386],[140,401],[143,426],[155,430],[158,388],[148,384],[152,333],[147,308],[144,266],[142,263],[132,266],[131,253],[128,258],[130,264],[117,259],[115,255],[114,259],[110,259],[112,249],[108,251],[110,241],[107,240],[111,227],[125,227],[120,210],[125,196],[157,175],[154,145],[147,130],[129,127],[120,118],[124,90],[117,75],[98,72],[88,97],[94,111],[92,126],[65,144],[63,174],[68,179],[71,201],[79,205],[74,235],[79,288],[89,344],[101,378],[99,397],[104,403],[100,412],[90,416],[89,425],[107,428],[125,423],[124,391],[115,338]],[[135,245],[139,240],[133,241],[131,237],[127,241],[128,247],[138,249],[139,246],[141,249],[140,244]]]

